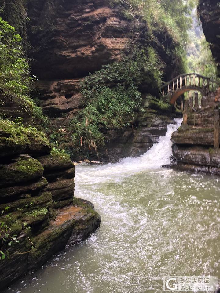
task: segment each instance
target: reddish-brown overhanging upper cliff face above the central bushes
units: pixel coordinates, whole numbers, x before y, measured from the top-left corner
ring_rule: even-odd
[[[105,0],[37,0],[30,2],[28,16],[32,70],[43,80],[95,72],[120,59],[130,38],[130,23]]]

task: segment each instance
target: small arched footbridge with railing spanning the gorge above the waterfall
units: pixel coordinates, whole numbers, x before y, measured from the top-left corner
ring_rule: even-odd
[[[203,96],[207,96],[211,91],[213,92],[219,86],[219,82],[197,73],[180,74],[165,83],[161,89],[162,94],[170,96],[170,103],[175,101],[184,92],[197,91],[201,92]]]

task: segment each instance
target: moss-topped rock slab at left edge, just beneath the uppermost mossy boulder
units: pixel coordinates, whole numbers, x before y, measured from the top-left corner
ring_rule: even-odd
[[[43,175],[44,168],[38,160],[19,160],[9,165],[0,165],[0,187],[35,180]]]

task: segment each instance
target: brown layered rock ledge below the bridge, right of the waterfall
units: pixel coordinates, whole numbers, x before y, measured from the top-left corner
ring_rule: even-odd
[[[204,106],[189,113],[187,125],[172,134],[174,168],[220,175],[220,150],[214,149],[213,129],[218,92],[205,97]]]

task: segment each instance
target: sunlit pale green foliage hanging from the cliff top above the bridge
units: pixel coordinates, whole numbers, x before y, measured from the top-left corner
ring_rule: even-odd
[[[186,44],[188,29],[192,24],[191,11],[196,0],[112,0],[112,5],[120,5],[124,17],[133,21],[134,31],[145,31],[154,48],[160,46],[160,54],[168,56],[175,74],[186,71]],[[142,20],[146,28],[141,27]],[[140,34],[141,35],[141,34]],[[163,36],[161,40],[161,36]],[[136,42],[138,37],[132,37]]]

